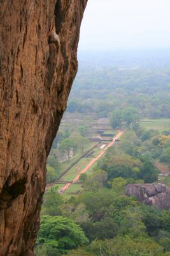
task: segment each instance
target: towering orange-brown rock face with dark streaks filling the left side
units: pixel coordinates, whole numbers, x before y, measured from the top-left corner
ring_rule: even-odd
[[[0,255],[32,255],[87,0],[0,1]]]

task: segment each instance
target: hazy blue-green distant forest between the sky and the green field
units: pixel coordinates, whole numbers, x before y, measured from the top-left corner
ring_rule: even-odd
[[[142,116],[170,117],[169,51],[80,54],[67,112],[108,116],[132,106]]]

